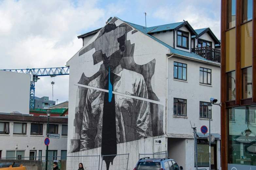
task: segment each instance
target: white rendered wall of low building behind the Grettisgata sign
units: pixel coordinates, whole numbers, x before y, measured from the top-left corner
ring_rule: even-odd
[[[27,122],[27,121],[3,121],[9,122],[9,134],[0,134],[0,150],[2,150],[2,158],[6,157],[6,150],[25,150],[25,157],[29,157],[30,150],[36,150],[39,156],[39,150],[42,150],[42,156],[45,156],[46,146],[44,145],[44,139],[46,138],[47,122],[43,123],[43,135],[30,135],[31,123],[41,122]],[[13,122],[16,123],[27,123],[26,135],[13,135]],[[61,150],[67,150],[67,136],[62,136],[62,124],[67,123],[55,123],[50,122],[49,124],[59,124],[58,133],[60,138],[50,138],[50,144],[48,150],[58,150],[57,156],[60,156]],[[18,149],[15,149],[18,145]],[[35,149],[33,149],[35,147]]]

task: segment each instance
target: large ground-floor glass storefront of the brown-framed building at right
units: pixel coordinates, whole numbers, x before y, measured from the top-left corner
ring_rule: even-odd
[[[256,105],[228,108],[228,164],[256,167],[255,111]]]

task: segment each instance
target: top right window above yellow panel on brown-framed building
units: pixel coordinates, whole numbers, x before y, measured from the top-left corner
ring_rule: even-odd
[[[252,20],[252,1],[242,0],[242,23]]]

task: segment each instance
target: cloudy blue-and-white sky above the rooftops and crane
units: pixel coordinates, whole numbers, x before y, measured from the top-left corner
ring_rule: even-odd
[[[110,17],[145,26],[188,21],[220,38],[220,0],[0,0],[0,69],[63,67],[82,47],[77,36]],[[69,76],[40,77],[37,97],[68,100]],[[28,101],[29,102],[29,101]]]

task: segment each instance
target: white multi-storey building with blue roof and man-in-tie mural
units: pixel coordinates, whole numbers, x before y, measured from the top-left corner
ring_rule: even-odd
[[[139,153],[167,151],[192,170],[195,124],[198,166],[209,169],[200,127],[209,127],[210,98],[220,100],[220,51],[214,49],[220,42],[211,30],[194,30],[187,21],[144,27],[114,17],[78,38],[83,48],[66,64],[68,155],[130,153],[133,169]],[[212,109],[211,133],[212,169],[221,169],[219,106]]]

